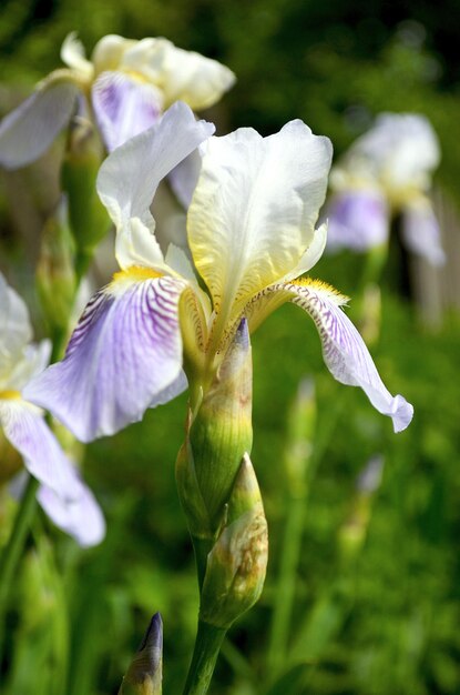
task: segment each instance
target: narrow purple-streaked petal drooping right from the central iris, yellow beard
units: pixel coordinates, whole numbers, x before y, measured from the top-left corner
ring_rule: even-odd
[[[284,289],[314,320],[333,376],[343,384],[360,386],[374,407],[391,417],[395,432],[405,430],[412,420],[413,407],[401,395],[392,396],[385,386],[362,338],[340,309],[345,299],[315,281],[286,283]]]

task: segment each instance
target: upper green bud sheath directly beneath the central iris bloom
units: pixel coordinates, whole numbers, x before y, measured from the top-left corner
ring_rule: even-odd
[[[176,466],[177,488],[192,535],[215,536],[245,452],[251,451],[252,359],[242,321],[203,395]]]

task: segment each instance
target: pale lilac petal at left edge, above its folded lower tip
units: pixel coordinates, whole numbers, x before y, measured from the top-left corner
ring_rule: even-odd
[[[71,500],[78,493],[72,464],[37,407],[19,397],[2,399],[0,424],[33,477],[62,497]]]

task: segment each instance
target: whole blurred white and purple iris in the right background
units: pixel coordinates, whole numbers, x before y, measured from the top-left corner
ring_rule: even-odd
[[[428,198],[439,164],[429,121],[411,113],[382,113],[333,169],[328,249],[367,251],[388,240],[390,219],[401,214],[407,248],[433,265],[444,261],[439,225]]]

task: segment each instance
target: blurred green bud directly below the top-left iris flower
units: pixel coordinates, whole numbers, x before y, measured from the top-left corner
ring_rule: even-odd
[[[69,219],[76,244],[76,270],[81,276],[93,249],[108,233],[111,222],[101,203],[95,181],[104,150],[94,127],[74,119],[62,163],[62,190],[69,199]]]

